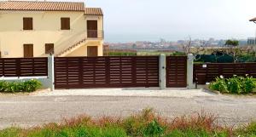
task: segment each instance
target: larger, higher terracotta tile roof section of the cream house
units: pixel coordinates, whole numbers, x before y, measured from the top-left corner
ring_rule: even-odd
[[[0,2],[0,10],[84,11],[84,3],[5,1]]]

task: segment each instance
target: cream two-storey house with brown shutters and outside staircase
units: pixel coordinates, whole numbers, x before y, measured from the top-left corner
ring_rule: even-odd
[[[3,58],[102,56],[103,14],[84,3],[0,2]]]

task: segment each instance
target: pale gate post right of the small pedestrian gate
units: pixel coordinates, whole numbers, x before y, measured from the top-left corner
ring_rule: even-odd
[[[193,69],[194,69],[194,55],[188,54],[188,60],[187,60],[187,83],[188,88],[192,89],[195,88],[195,85],[193,83]]]

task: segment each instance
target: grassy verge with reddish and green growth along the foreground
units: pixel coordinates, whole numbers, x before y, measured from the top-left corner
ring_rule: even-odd
[[[1,137],[228,137],[255,136],[256,123],[232,129],[217,125],[212,115],[177,117],[172,121],[158,117],[152,110],[126,118],[80,116],[63,123],[38,128],[7,128]]]

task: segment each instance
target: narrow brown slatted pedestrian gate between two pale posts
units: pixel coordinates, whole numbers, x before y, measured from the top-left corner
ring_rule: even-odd
[[[166,87],[187,87],[187,56],[166,57]]]

